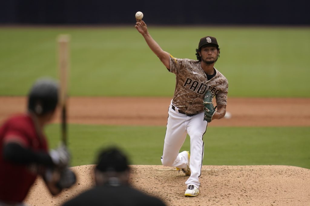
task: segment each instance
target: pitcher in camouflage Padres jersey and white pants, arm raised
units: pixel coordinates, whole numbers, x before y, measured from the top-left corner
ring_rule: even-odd
[[[168,71],[176,75],[175,93],[168,110],[162,164],[176,167],[188,175],[184,196],[197,196],[204,153],[203,135],[208,122],[221,119],[226,113],[228,81],[214,68],[219,58],[219,45],[215,37],[203,37],[196,49],[197,60],[179,59],[162,50],[148,33],[143,20],[136,19],[135,28]],[[216,107],[212,103],[214,96]],[[191,153],[179,153],[186,134],[190,137]]]

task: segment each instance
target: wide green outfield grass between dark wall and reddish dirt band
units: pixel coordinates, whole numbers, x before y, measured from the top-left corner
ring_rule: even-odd
[[[201,37],[216,36],[215,67],[229,96],[310,97],[309,27],[156,27],[149,32],[178,58],[195,59]],[[71,96],[172,96],[168,73],[133,26],[0,29],[0,95],[26,95],[41,76],[57,77],[56,36],[71,35]]]

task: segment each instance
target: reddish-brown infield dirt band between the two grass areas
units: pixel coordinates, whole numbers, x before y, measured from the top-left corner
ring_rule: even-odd
[[[169,97],[71,97],[69,123],[165,126],[170,101]],[[0,102],[0,123],[26,110],[24,97],[0,97]],[[228,98],[231,118],[208,126],[310,126],[309,106],[310,98]]]

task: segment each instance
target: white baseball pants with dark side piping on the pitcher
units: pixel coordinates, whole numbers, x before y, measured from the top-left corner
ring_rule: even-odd
[[[168,110],[168,123],[166,136],[164,141],[164,149],[162,155],[162,165],[184,168],[187,164],[187,153],[179,153],[185,139],[186,134],[190,137],[190,169],[191,175],[185,184],[200,186],[199,177],[201,175],[201,166],[204,152],[204,142],[202,140],[206,132],[207,122],[203,121],[204,113],[194,116],[186,116],[178,112],[175,107],[172,109],[172,103]]]

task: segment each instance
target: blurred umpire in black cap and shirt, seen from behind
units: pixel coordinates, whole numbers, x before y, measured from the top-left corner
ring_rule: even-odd
[[[69,200],[63,206],[165,205],[161,200],[132,188],[129,178],[130,168],[126,156],[117,148],[105,149],[100,153],[95,168],[96,186]]]

